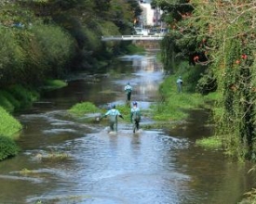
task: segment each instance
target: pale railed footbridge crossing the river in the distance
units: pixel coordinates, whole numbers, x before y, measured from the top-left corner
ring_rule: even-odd
[[[101,41],[160,41],[163,35],[110,35],[101,36]]]

